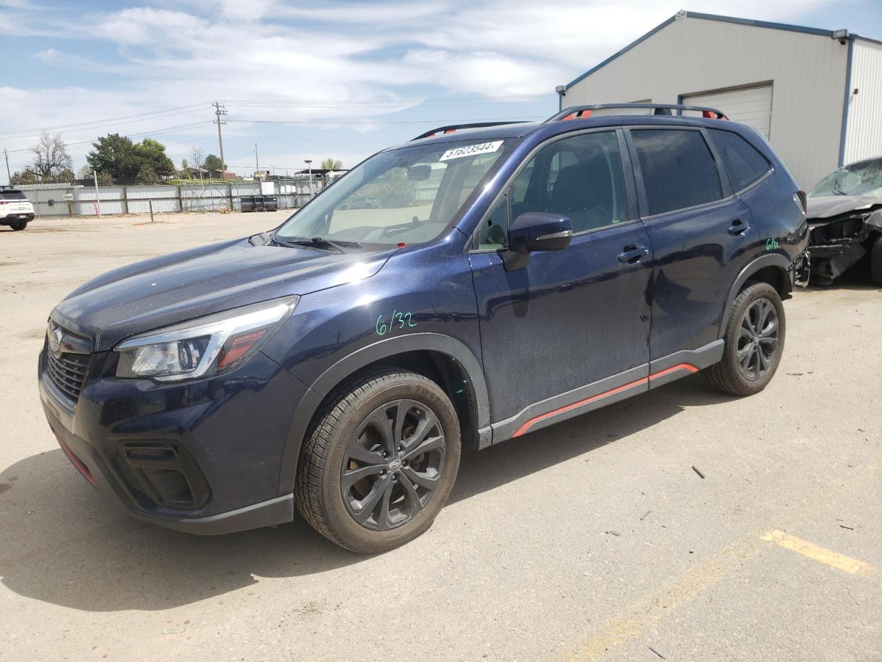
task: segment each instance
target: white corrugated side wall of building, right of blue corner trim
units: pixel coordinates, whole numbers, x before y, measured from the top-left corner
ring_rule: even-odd
[[[882,156],[882,44],[856,39],[848,86],[845,163]],[[857,94],[854,94],[857,90]]]

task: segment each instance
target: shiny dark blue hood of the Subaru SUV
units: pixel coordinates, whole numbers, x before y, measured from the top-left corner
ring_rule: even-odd
[[[328,252],[248,238],[137,262],[86,282],[52,318],[109,350],[130,335],[375,275],[397,249]]]

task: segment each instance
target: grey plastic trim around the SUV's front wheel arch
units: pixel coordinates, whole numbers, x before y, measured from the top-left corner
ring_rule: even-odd
[[[385,338],[352,352],[328,367],[310,384],[306,395],[297,403],[281,457],[280,494],[294,490],[297,461],[300,448],[303,446],[303,438],[318,407],[334,387],[368,365],[411,351],[437,352],[456,361],[467,374],[475,396],[478,429],[490,427],[490,396],[487,382],[484,380],[483,368],[475,353],[463,342],[450,335],[436,333],[415,333]]]

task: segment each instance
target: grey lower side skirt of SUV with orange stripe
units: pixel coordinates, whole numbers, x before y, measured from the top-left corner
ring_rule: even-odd
[[[632,395],[646,393],[651,388],[699,372],[702,368],[719,362],[722,351],[723,342],[716,340],[699,347],[698,350],[677,351],[667,357],[654,359],[648,364],[574,388],[572,391],[555,395],[542,402],[535,402],[520,410],[512,418],[490,425],[491,434],[487,434],[488,429],[484,428],[481,431],[482,448],[600,409],[613,402],[630,398]]]

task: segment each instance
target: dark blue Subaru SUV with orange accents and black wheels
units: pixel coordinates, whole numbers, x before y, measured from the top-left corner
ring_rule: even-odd
[[[442,127],[277,229],[74,290],[39,365],[64,452],[149,522],[223,533],[296,506],[370,553],[430,526],[463,447],[692,372],[757,393],[804,193],[717,110],[622,108]]]

